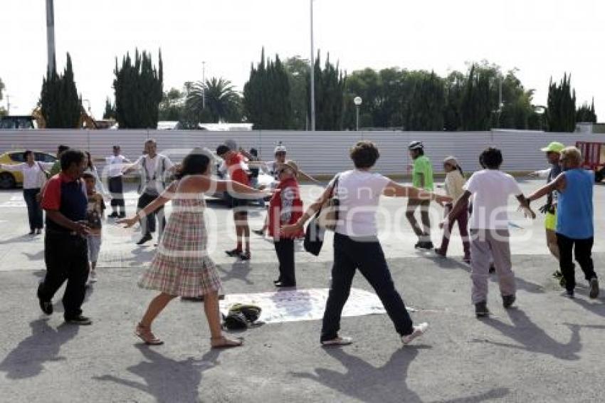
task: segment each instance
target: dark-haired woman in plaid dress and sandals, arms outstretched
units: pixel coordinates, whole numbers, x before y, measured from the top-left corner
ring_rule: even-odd
[[[148,345],[162,344],[151,330],[157,315],[177,296],[197,297],[204,295],[204,311],[210,327],[210,343],[214,348],[237,347],[241,339],[230,339],[221,331],[219,319],[219,290],[221,279],[216,273],[214,262],[208,256],[208,235],[204,223],[204,193],[230,192],[239,198],[258,199],[264,192],[231,181],[215,181],[210,177],[212,155],[204,150],[193,150],[183,160],[179,180],[173,182],[151,204],[130,219],[117,221],[134,225],[139,219],[172,200],[173,211],[164,235],[159,243],[151,266],[139,281],[141,288],[159,291],[135,334]]]

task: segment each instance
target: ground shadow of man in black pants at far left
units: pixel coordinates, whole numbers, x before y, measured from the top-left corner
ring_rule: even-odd
[[[31,336],[23,339],[0,363],[0,371],[11,380],[35,377],[48,361],[65,360],[60,357],[61,346],[78,334],[78,325],[63,323],[56,329],[48,325],[48,318],[29,323]]]

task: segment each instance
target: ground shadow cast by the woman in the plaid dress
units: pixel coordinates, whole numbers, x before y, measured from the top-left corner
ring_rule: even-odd
[[[172,360],[147,345],[137,345],[147,361],[128,367],[128,371],[144,382],[125,380],[114,375],[93,377],[93,380],[115,382],[145,392],[158,402],[198,402],[201,374],[219,365],[220,350],[206,352],[201,360],[189,357],[183,361]]]

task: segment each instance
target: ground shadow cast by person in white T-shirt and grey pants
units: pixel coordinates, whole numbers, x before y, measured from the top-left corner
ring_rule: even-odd
[[[483,320],[483,323],[491,326],[495,330],[498,330],[500,333],[506,337],[510,337],[519,344],[515,345],[505,342],[494,342],[491,340],[475,341],[483,341],[492,345],[498,345],[500,347],[516,348],[529,352],[552,355],[552,357],[559,358],[561,360],[574,361],[580,359],[579,355],[577,354],[580,352],[580,350],[582,350],[579,325],[567,323],[566,325],[572,332],[572,335],[569,337],[569,342],[561,343],[547,335],[547,333],[541,328],[538,328],[537,325],[535,325],[535,323],[533,323],[522,310],[513,308],[507,310],[507,313],[512,320],[512,325],[507,325],[506,323],[495,319]]]

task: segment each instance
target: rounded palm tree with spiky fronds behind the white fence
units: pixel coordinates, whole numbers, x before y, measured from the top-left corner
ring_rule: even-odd
[[[199,116],[200,120],[208,119],[215,123],[226,120],[241,121],[240,95],[231,81],[222,77],[213,77],[206,80],[206,83],[193,83],[187,98],[187,108]]]

